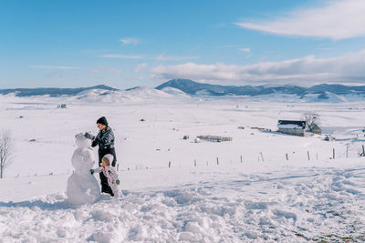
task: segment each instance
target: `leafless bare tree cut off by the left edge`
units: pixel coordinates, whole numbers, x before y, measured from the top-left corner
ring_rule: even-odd
[[[4,177],[5,168],[13,162],[14,140],[11,132],[3,130],[0,133],[0,178]]]

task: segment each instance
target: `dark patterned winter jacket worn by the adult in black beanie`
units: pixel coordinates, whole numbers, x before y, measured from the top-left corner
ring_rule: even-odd
[[[107,154],[111,154],[114,157],[114,160],[111,162],[111,166],[115,167],[117,156],[115,154],[114,139],[114,133],[112,129],[108,127],[107,130],[99,131],[97,137],[95,137],[94,141],[92,141],[91,147],[99,146],[99,166],[101,166],[102,157]]]

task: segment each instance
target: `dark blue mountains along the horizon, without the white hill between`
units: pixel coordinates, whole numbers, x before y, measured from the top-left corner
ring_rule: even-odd
[[[125,91],[133,91],[138,87],[129,88]],[[197,83],[189,79],[172,79],[155,89],[167,91],[172,89],[181,90],[190,96],[263,96],[263,95],[295,95],[299,98],[308,95],[315,95],[318,100],[326,100],[328,96],[348,96],[357,95],[365,97],[365,86],[343,86],[321,84],[311,87],[303,86],[220,86]],[[120,91],[110,86],[90,86],[78,88],[16,88],[0,89],[1,95],[15,94],[16,96],[76,96],[81,92],[90,90],[108,91],[100,95],[109,94],[110,91]],[[180,91],[179,91],[180,92]],[[175,92],[176,93],[176,92]]]

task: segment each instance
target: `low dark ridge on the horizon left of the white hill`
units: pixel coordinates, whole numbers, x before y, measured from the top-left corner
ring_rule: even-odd
[[[37,87],[37,88],[14,88],[14,89],[0,89],[1,95],[15,93],[16,96],[75,96],[80,92],[101,89],[108,91],[117,91],[118,89],[110,86],[90,86],[77,88],[59,88],[59,87]]]

